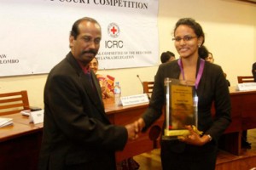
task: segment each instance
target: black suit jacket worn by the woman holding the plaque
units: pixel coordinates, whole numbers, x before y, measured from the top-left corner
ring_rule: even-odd
[[[197,71],[200,59],[197,63]],[[160,65],[154,77],[154,90],[151,96],[148,110],[143,114],[146,130],[162,113],[162,107],[166,104],[164,80],[166,77],[179,79],[180,68],[177,60]],[[230,94],[224,73],[220,66],[205,62],[204,71],[196,90],[198,103],[198,128],[204,133],[210,134],[215,142],[230,125]],[[215,105],[215,117],[212,118],[212,103]],[[173,142],[171,150],[182,152],[186,144]]]

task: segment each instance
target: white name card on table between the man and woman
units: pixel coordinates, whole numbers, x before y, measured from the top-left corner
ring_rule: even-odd
[[[148,102],[148,95],[147,94],[137,94],[131,96],[121,97],[122,105],[136,105]]]

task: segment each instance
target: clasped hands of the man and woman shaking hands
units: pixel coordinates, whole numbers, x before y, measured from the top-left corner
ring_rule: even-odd
[[[145,127],[145,122],[143,118],[139,118],[137,121],[125,125],[125,128],[128,132],[128,139],[137,139],[138,134],[142,131],[143,127]]]

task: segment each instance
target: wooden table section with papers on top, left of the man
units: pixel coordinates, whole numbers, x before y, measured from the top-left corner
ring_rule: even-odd
[[[37,169],[43,123],[29,123],[21,114],[1,117],[13,118],[13,125],[0,128],[0,169]]]

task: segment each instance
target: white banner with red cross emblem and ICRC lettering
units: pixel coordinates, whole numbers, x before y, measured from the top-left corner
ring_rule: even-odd
[[[159,64],[158,0],[1,0],[0,10],[0,77],[48,73],[84,16],[102,26],[100,69]]]

